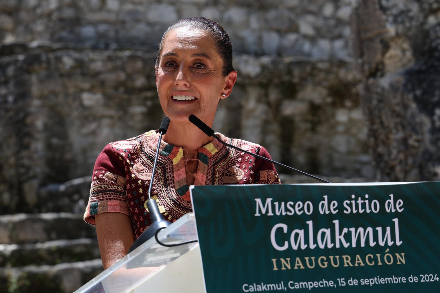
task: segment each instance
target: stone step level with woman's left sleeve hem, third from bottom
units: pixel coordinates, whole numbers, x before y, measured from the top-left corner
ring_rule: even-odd
[[[58,239],[96,238],[94,226],[82,214],[17,213],[0,216],[0,244],[23,244]]]

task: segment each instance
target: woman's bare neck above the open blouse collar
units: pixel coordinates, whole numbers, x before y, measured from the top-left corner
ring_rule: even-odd
[[[213,137],[207,136],[190,122],[172,123],[170,121],[168,130],[162,140],[170,145],[182,147],[187,151],[187,157],[194,158],[197,149],[208,144],[213,140]]]

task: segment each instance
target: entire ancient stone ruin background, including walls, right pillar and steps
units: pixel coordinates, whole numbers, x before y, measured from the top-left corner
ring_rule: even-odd
[[[4,0],[0,288],[73,292],[102,271],[93,164],[158,127],[157,44],[189,16],[233,42],[216,131],[334,182],[439,177],[438,0]]]

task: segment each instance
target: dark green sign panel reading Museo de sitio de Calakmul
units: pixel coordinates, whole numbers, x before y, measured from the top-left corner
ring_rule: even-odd
[[[195,186],[206,292],[434,292],[440,183]]]

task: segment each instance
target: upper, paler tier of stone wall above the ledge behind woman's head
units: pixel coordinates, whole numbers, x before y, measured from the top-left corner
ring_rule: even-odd
[[[231,35],[235,52],[347,58],[356,0],[3,0],[2,42],[88,43],[154,51],[180,18],[205,16]]]

